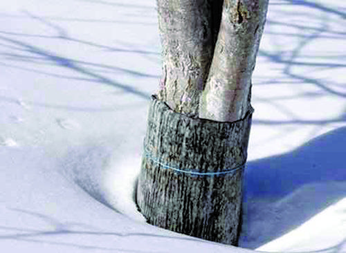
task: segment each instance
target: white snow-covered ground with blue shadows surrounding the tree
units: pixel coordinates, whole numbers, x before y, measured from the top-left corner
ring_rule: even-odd
[[[346,2],[270,0],[241,247],[143,222],[154,0],[0,3],[0,252],[346,252]]]

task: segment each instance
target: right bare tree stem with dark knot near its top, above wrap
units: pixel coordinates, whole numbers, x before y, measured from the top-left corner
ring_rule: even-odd
[[[225,0],[199,118],[232,122],[248,111],[251,76],[262,37],[268,0]]]

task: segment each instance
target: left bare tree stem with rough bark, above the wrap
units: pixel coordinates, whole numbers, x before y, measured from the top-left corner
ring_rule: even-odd
[[[198,116],[214,53],[223,0],[158,0],[163,77],[158,99]]]

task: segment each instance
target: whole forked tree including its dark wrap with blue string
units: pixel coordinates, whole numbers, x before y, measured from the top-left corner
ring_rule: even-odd
[[[163,77],[150,104],[137,203],[149,223],[237,243],[268,0],[157,0]]]

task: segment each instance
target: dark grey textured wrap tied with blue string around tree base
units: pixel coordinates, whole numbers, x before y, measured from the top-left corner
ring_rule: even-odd
[[[236,122],[189,118],[152,96],[137,189],[148,223],[237,244],[252,113]]]

